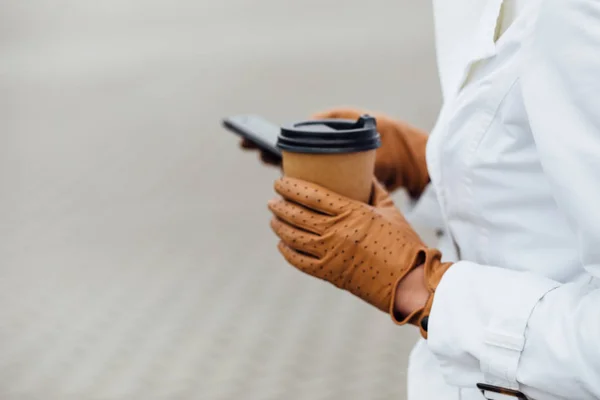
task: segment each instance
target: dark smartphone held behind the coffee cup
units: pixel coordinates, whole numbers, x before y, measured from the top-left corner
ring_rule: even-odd
[[[281,158],[281,151],[277,148],[279,125],[258,115],[235,115],[223,119],[223,126],[227,130],[250,140],[261,150]]]

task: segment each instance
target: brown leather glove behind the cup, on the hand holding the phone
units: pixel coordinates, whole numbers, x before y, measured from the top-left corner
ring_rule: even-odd
[[[385,114],[354,108],[336,108],[313,115],[315,119],[358,119],[369,114],[377,119],[381,147],[377,149],[375,176],[389,191],[405,188],[411,197],[418,198],[429,183],[425,160],[428,135],[403,121]]]

